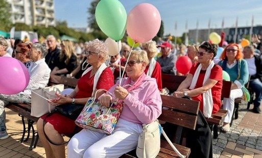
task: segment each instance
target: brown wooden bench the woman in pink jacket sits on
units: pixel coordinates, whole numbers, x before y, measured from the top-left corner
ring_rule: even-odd
[[[170,140],[181,154],[188,157],[190,149],[181,145],[183,140],[183,128],[196,128],[200,102],[166,95],[161,95],[161,98],[162,107],[164,107],[164,109],[162,109],[162,114],[159,116],[158,120],[160,123],[169,122],[177,126],[177,130],[174,131],[174,138],[170,138]],[[179,157],[166,140],[161,139],[160,144],[161,148],[157,157]],[[136,157],[135,150],[121,157]]]

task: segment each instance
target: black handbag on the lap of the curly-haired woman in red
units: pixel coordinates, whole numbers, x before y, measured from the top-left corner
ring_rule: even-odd
[[[84,108],[84,105],[82,104],[65,103],[65,104],[56,106],[53,112],[60,113],[61,115],[64,115],[67,118],[75,120],[77,119],[77,117],[79,116],[83,108]]]

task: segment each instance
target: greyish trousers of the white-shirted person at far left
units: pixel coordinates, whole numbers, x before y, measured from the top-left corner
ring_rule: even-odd
[[[5,106],[9,102],[15,103],[30,103],[31,95],[23,95],[23,94],[13,94],[13,95],[4,95],[0,94],[0,130],[6,130],[6,112]]]

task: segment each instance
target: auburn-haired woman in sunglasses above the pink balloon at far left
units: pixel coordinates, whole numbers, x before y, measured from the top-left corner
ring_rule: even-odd
[[[29,68],[32,63],[28,54],[31,47],[31,43],[19,43],[14,49],[14,58],[25,64],[27,68]]]

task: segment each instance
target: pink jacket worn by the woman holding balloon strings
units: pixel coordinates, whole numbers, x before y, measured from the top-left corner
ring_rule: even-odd
[[[122,83],[126,83],[126,80],[127,78],[123,78]],[[131,82],[131,85],[133,84],[134,82]],[[117,85],[119,85],[119,81],[109,89],[109,92],[113,94]],[[162,112],[162,100],[156,80],[150,76],[146,76],[145,80],[130,91],[123,101],[124,108],[120,118],[130,122],[148,124],[155,121]]]

